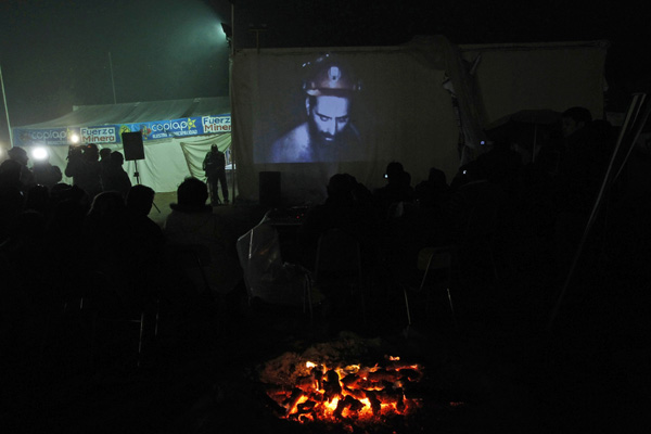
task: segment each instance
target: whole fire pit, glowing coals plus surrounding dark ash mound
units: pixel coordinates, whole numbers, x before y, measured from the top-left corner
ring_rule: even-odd
[[[433,404],[419,384],[425,368],[394,355],[369,363],[375,356],[367,349],[362,341],[343,340],[269,360],[259,372],[269,406],[281,419],[347,432],[385,431],[419,420],[423,407]]]

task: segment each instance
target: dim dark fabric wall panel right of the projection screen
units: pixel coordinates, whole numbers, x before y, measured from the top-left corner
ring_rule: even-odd
[[[476,82],[483,126],[521,110],[563,112],[580,105],[603,118],[607,41],[461,46],[481,55]]]

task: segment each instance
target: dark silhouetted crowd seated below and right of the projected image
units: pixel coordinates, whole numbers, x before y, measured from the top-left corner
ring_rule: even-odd
[[[423,247],[456,245],[464,253],[461,260],[502,261],[490,265],[509,272],[520,267],[525,273],[548,255],[540,266],[551,265],[548,275],[561,279],[614,145],[612,128],[592,122],[587,110],[570,108],[562,119],[565,127],[536,162],[523,164],[515,143],[497,140],[460,167],[450,184],[432,167],[427,180],[413,188],[403,164],[392,162],[386,186],[360,201],[354,189],[368,189],[350,175],[333,176],[328,199],[308,212],[301,229],[304,265],[314,264],[318,237],[335,227],[358,239],[367,260],[395,275],[414,267]]]

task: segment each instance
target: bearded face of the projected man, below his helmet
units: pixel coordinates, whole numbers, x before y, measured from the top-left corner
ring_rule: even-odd
[[[335,144],[350,120],[347,97],[319,95],[306,99],[310,133],[323,145]]]

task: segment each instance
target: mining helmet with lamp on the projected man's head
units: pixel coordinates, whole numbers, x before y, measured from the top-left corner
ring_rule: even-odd
[[[332,54],[307,62],[303,67],[306,69],[303,90],[308,95],[348,95],[361,89],[353,69]]]

